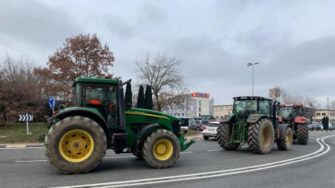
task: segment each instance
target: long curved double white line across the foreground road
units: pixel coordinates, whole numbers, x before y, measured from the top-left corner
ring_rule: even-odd
[[[320,144],[320,149],[312,152],[307,155],[303,155],[300,157],[295,157],[292,159],[285,159],[278,162],[271,162],[267,164],[260,164],[255,166],[246,166],[242,168],[237,169],[228,169],[228,170],[222,170],[222,171],[210,171],[205,173],[193,173],[193,174],[186,174],[186,175],[174,175],[174,176],[167,176],[167,177],[160,177],[160,178],[149,178],[149,179],[140,179],[140,180],[127,180],[127,181],[119,181],[119,182],[105,182],[105,183],[98,183],[98,184],[89,184],[89,185],[74,185],[74,186],[65,186],[63,188],[74,188],[74,187],[128,187],[128,186],[135,186],[135,185],[149,185],[149,184],[156,184],[156,183],[162,183],[162,182],[177,182],[177,181],[184,181],[184,180],[198,180],[203,178],[213,178],[218,176],[225,176],[225,175],[232,175],[232,174],[238,174],[238,173],[246,173],[251,171],[260,171],[263,169],[271,169],[277,166],[284,166],[288,164],[293,164],[297,162],[302,162],[308,159],[313,159],[315,157],[319,157],[320,155],[325,155],[327,152],[329,152],[330,147],[327,143],[325,143],[325,139],[332,137],[335,135],[330,136],[323,136],[318,138],[316,141]],[[320,141],[321,139],[321,141]],[[322,142],[322,143],[321,143]],[[327,146],[327,150],[321,152],[325,149],[325,146]],[[315,155],[319,153],[318,155]],[[312,156],[313,155],[313,156]],[[61,188],[61,187],[59,187]]]

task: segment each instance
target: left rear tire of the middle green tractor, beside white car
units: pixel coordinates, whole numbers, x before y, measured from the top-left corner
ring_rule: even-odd
[[[220,125],[218,125],[216,138],[221,148],[225,150],[237,150],[237,148],[239,148],[240,143],[232,143],[232,145],[226,146],[226,143],[230,141],[231,134],[230,125],[228,123],[220,123]]]

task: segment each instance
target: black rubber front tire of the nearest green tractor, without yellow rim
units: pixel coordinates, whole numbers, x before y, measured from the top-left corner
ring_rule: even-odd
[[[154,146],[161,140],[168,140],[172,144],[172,154],[168,157],[168,159],[158,159],[158,157],[154,154]],[[168,130],[156,130],[151,132],[151,134],[147,136],[147,139],[145,139],[142,148],[142,155],[145,162],[147,162],[150,166],[156,169],[166,169],[170,168],[177,162],[180,150],[177,136]],[[168,152],[168,150],[166,152]]]

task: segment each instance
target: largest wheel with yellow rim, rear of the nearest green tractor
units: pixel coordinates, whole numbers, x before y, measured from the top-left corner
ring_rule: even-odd
[[[47,161],[65,174],[87,173],[101,163],[107,149],[105,132],[90,118],[72,116],[52,126],[45,137]]]

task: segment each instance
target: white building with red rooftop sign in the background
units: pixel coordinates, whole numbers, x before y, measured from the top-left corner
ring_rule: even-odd
[[[188,95],[183,107],[163,111],[176,117],[200,118],[201,116],[214,116],[214,99],[209,93],[191,93]]]

